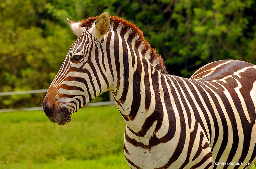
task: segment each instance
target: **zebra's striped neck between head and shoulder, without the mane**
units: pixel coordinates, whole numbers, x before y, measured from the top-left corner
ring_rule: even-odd
[[[148,134],[151,137],[149,135],[159,130],[163,122],[161,78],[166,75],[156,68],[159,62],[149,61],[150,51],[143,52],[143,45],[136,46],[135,40],[129,41],[130,36],[118,33],[118,30],[109,31],[107,38],[109,44],[113,44],[109,46],[109,51],[113,52],[108,57],[113,72],[110,90],[129,131],[138,137],[151,133]]]

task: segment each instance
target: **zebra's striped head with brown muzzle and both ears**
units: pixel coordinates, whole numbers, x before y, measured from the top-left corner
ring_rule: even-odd
[[[46,116],[59,125],[68,123],[74,112],[109,90],[113,83],[108,60],[104,56],[106,52],[103,52],[110,16],[104,12],[97,20],[91,20],[93,22],[88,23],[68,20],[78,39],[69,49],[44,98]]]

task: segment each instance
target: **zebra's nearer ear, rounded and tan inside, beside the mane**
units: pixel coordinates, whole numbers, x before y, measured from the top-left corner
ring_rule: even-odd
[[[110,28],[110,16],[108,12],[102,13],[96,20],[95,24],[92,25],[90,33],[94,37],[101,37],[108,33]]]

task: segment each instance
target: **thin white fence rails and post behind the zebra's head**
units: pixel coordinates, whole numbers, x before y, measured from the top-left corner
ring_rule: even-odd
[[[27,90],[27,91],[17,91],[17,92],[2,92],[0,96],[6,95],[22,95],[22,94],[34,94],[34,93],[46,93],[48,89],[40,89],[40,90]],[[96,102],[96,103],[88,103],[86,106],[101,106],[101,105],[111,105],[116,104],[113,101],[113,96],[110,95],[110,101],[108,102]],[[30,108],[20,108],[20,109],[0,109],[0,113],[4,112],[13,112],[13,111],[31,111],[31,110],[43,110],[43,107],[30,107]]]

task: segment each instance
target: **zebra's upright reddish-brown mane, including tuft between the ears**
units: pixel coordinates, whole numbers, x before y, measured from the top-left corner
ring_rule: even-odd
[[[86,29],[91,28],[92,24],[97,18],[98,17],[89,17],[86,20],[81,20],[81,27],[85,27]],[[163,74],[168,74],[167,69],[164,65],[163,58],[156,52],[154,48],[150,46],[149,42],[145,39],[143,32],[138,26],[123,18],[119,18],[116,16],[110,16],[110,18],[110,29],[116,30],[116,32],[117,30],[119,30],[120,35],[123,36],[125,35],[125,33],[128,32],[128,40],[130,40],[131,42],[132,40],[135,40],[135,48],[141,51],[142,56],[144,56],[144,58],[147,59],[149,63],[151,63],[154,67],[156,67],[159,72]]]

